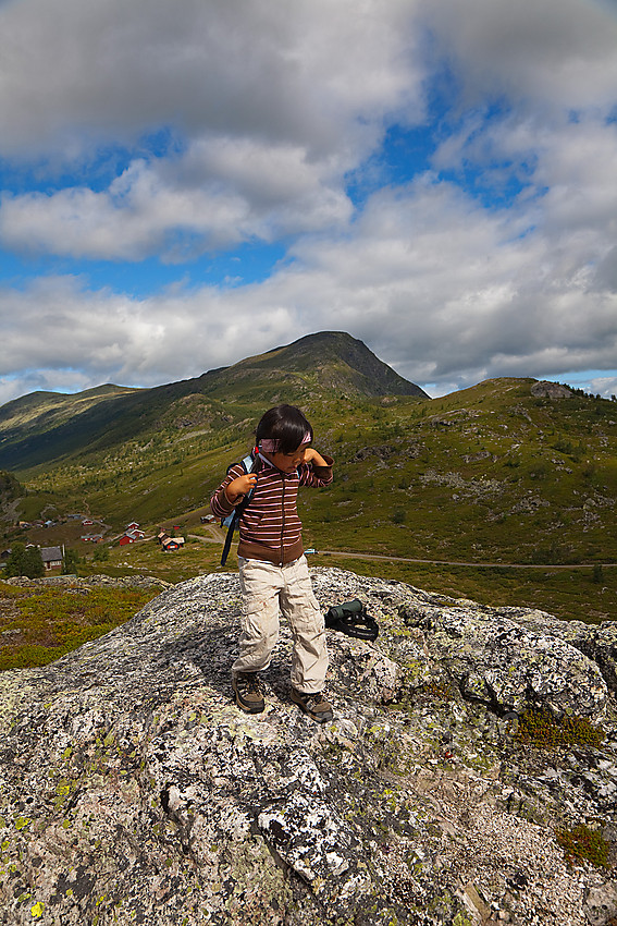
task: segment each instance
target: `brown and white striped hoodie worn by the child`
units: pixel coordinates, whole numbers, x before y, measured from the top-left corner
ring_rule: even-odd
[[[298,517],[296,501],[300,486],[322,488],[332,482],[331,456],[323,456],[328,466],[303,463],[293,473],[282,473],[272,463],[260,456],[257,485],[247,508],[240,515],[238,557],[267,560],[283,565],[301,557],[303,524]],[[226,517],[240,503],[240,496],[232,504],[225,488],[238,476],[244,475],[242,463],[232,466],[212,498],[210,509],[215,517]]]

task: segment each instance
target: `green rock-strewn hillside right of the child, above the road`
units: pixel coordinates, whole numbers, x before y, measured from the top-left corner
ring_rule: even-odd
[[[617,405],[496,379],[336,429],[325,546],[458,562],[617,561]],[[379,416],[381,413],[381,417]]]

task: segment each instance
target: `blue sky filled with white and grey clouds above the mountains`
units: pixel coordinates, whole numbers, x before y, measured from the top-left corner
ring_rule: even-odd
[[[0,403],[320,330],[617,392],[616,0],[0,0]]]

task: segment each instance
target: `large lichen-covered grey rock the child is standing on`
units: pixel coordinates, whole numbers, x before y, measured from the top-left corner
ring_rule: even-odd
[[[329,632],[324,727],[285,626],[266,712],[231,703],[232,574],[0,675],[0,923],[615,923],[616,624],[312,575],[381,625]]]

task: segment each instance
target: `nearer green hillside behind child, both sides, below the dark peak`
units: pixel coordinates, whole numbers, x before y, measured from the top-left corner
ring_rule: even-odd
[[[311,543],[471,562],[616,559],[617,409],[590,397],[536,398],[534,382],[491,380],[423,401],[307,398],[317,444],[336,460],[332,489],[303,498]],[[32,475],[30,492],[46,503],[85,497],[119,528],[202,505],[250,444],[266,404],[247,414],[230,401],[214,426],[206,401],[163,406],[156,437]]]

